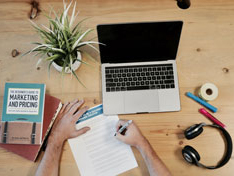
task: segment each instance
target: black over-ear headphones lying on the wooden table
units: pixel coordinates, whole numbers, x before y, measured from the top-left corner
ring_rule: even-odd
[[[227,142],[227,145],[226,145],[227,150],[226,150],[225,156],[219,161],[219,163],[216,166],[206,166],[206,165],[203,165],[203,164],[201,164],[199,162],[200,155],[198,154],[198,152],[193,147],[191,147],[189,145],[186,145],[182,149],[182,155],[183,155],[184,159],[188,163],[195,164],[198,167],[203,167],[203,168],[206,168],[206,169],[220,168],[220,167],[224,166],[229,161],[229,159],[231,158],[231,155],[232,155],[232,138],[229,135],[229,133],[224,128],[222,128],[221,126],[218,126],[216,124],[208,125],[208,124],[205,124],[205,123],[200,123],[200,124],[195,124],[195,125],[187,128],[185,130],[184,135],[185,135],[186,139],[190,140],[190,139],[193,139],[193,138],[197,137],[199,134],[202,133],[204,126],[214,127],[214,128],[216,128],[216,129],[218,129],[219,131],[222,132],[222,134],[225,137],[226,142]]]

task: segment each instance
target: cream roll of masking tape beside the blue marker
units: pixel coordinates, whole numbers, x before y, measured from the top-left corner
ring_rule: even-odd
[[[218,88],[212,83],[203,84],[198,92],[198,96],[205,101],[215,100],[218,94]]]

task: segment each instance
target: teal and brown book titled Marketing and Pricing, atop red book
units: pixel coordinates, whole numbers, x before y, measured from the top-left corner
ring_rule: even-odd
[[[1,142],[41,144],[45,84],[5,83]]]

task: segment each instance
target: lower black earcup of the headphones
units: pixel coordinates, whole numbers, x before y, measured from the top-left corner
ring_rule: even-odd
[[[182,150],[184,159],[190,164],[196,164],[200,161],[199,153],[191,146],[186,145]]]

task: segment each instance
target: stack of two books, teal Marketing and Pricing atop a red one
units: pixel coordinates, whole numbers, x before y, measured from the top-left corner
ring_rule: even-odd
[[[6,83],[0,147],[36,161],[62,103],[45,94],[45,84]]]

